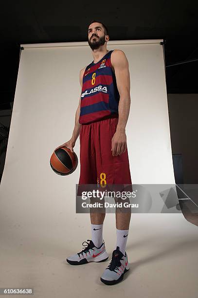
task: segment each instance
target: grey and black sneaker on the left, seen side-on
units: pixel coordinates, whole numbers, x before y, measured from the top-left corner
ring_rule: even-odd
[[[88,243],[89,241],[90,243]],[[88,262],[104,262],[108,260],[108,254],[105,248],[105,242],[100,247],[96,247],[91,240],[84,241],[87,243],[87,247],[67,258],[67,262],[71,265],[82,265]],[[82,243],[83,246],[84,242]]]

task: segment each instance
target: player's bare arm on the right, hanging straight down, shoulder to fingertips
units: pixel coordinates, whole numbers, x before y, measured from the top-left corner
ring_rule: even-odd
[[[130,75],[128,60],[122,50],[114,50],[111,64],[115,70],[117,88],[120,94],[118,106],[118,124],[111,141],[112,155],[120,155],[126,151],[126,123],[130,110]]]

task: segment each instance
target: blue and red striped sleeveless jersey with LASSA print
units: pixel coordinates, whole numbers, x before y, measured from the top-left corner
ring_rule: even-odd
[[[112,52],[109,51],[97,63],[92,61],[85,69],[80,102],[81,124],[118,117],[120,94],[111,66]]]

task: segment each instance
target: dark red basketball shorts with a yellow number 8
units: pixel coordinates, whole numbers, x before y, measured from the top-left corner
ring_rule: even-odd
[[[113,156],[111,151],[117,124],[118,118],[82,124],[79,185],[131,185],[127,147],[121,155]]]

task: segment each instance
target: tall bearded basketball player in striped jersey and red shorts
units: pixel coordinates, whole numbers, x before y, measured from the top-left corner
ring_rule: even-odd
[[[130,108],[128,61],[123,51],[107,50],[108,40],[107,27],[92,21],[88,43],[93,61],[80,71],[82,90],[72,138],[56,148],[66,146],[73,151],[80,134],[79,184],[82,185],[100,183],[102,179],[107,184],[131,184],[125,131]],[[116,212],[117,242],[101,276],[105,284],[120,282],[129,270],[125,249],[130,217],[131,212]],[[86,242],[86,248],[67,258],[70,264],[108,259],[103,242],[104,219],[105,213],[90,213],[92,238]]]

